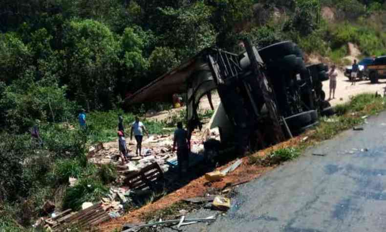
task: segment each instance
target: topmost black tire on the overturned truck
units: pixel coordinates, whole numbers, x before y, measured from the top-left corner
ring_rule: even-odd
[[[284,41],[270,46],[263,47],[258,50],[258,54],[264,63],[269,63],[277,60],[278,57],[295,54],[295,44],[291,41]]]

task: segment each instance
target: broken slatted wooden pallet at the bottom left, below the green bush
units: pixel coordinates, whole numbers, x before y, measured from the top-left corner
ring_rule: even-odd
[[[100,202],[78,212],[72,212],[71,209],[64,210],[55,217],[45,220],[45,227],[51,231],[64,231],[71,226],[92,228],[109,218]]]

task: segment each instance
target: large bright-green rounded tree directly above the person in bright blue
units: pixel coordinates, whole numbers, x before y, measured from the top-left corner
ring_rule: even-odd
[[[87,109],[113,105],[119,42],[108,27],[94,20],[66,23],[64,83],[70,97]]]

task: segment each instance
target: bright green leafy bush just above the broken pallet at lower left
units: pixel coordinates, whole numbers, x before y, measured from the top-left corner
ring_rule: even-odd
[[[63,208],[78,210],[84,202],[97,202],[106,196],[108,188],[96,179],[85,178],[78,181],[74,187],[66,189]]]

